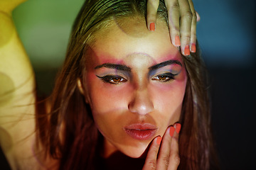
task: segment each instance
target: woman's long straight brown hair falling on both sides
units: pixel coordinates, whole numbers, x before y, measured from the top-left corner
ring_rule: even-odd
[[[95,169],[100,133],[90,106],[80,93],[77,80],[85,77],[87,49],[97,32],[114,18],[146,16],[146,0],[87,0],[73,25],[67,55],[52,94],[47,123],[40,123],[39,138],[59,169]],[[168,22],[164,1],[158,17]],[[167,26],[167,25],[166,25]],[[198,45],[197,45],[198,47]],[[181,164],[178,169],[209,169],[211,133],[205,68],[200,54],[183,57],[188,81],[181,113],[179,139]],[[42,121],[43,122],[43,121]]]

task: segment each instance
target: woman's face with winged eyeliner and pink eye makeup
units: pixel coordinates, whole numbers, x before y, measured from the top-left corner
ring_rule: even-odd
[[[86,100],[105,137],[105,157],[140,157],[181,115],[186,69],[166,23],[151,32],[138,18],[113,21],[88,56]]]

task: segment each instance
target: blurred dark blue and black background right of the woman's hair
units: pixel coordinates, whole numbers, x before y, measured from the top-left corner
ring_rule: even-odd
[[[255,0],[195,0],[221,169],[256,169]]]

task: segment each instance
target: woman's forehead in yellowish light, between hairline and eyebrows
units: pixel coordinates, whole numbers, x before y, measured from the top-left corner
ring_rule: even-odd
[[[165,22],[159,21],[156,30],[152,32],[146,28],[146,23],[138,18],[124,18],[118,22],[113,20],[107,30],[100,31],[95,36],[90,50],[90,59],[95,60],[97,64],[181,60],[178,49],[171,44]]]

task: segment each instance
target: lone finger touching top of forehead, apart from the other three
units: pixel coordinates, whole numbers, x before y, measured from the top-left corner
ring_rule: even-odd
[[[146,3],[146,26],[149,30],[156,29],[156,13],[159,0],[148,0]]]

